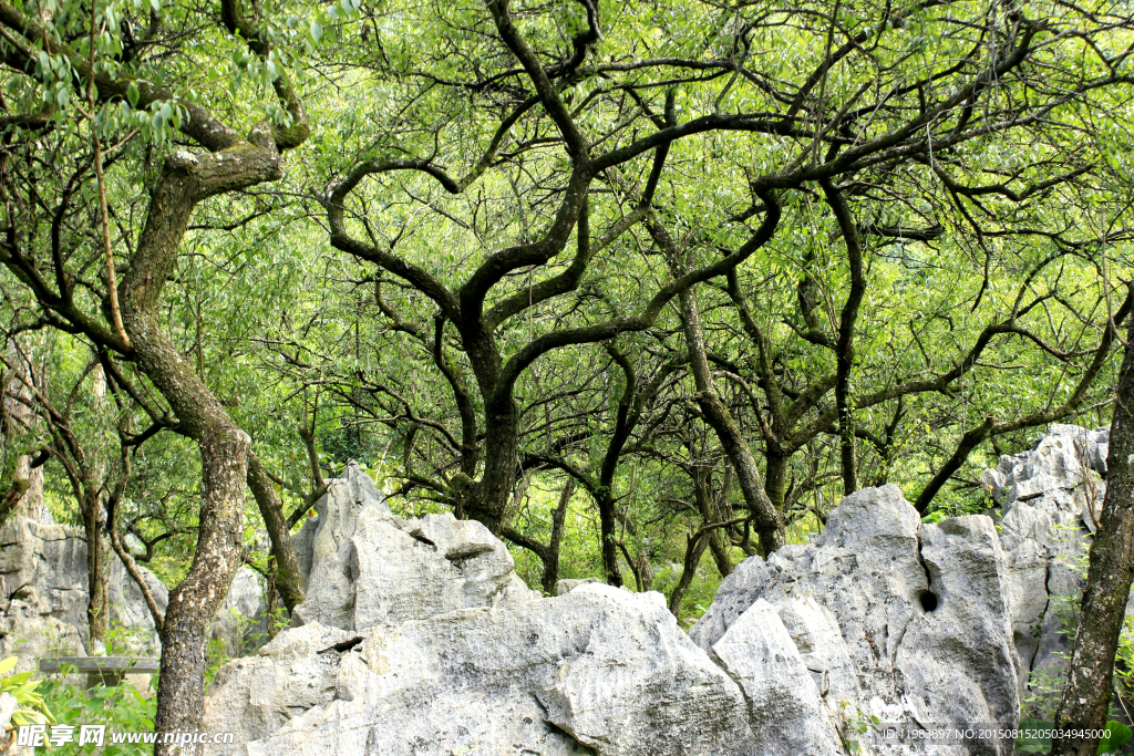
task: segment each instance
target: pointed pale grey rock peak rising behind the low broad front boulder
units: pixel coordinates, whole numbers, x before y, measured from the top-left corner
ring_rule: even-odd
[[[540,596],[483,525],[451,515],[404,520],[357,466],[347,466],[315,509],[295,541],[307,600],[293,626],[356,630]]]

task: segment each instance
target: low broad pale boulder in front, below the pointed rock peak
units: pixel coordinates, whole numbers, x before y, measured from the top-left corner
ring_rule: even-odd
[[[203,727],[278,727],[209,754],[694,756],[755,753],[747,720],[660,594],[584,585],[355,635],[287,630],[218,673]]]

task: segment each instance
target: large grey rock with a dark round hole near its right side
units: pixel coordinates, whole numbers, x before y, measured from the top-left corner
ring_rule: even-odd
[[[868,753],[907,753],[909,744],[848,734],[847,725],[871,716],[1018,721],[1007,585],[990,518],[922,525],[897,486],[864,489],[843,500],[813,543],[738,566],[691,637],[756,690],[750,697],[760,710],[753,731],[762,753],[829,753],[821,744],[830,737],[814,733],[835,729]],[[760,713],[771,714],[767,724]],[[794,740],[802,736],[789,722],[806,722],[816,742]],[[984,741],[939,753],[1013,747]]]

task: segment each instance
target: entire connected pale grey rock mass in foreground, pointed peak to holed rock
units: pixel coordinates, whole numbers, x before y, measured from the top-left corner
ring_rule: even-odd
[[[814,544],[737,568],[691,637],[657,593],[541,598],[479,524],[403,520],[361,475],[297,536],[314,602],[218,672],[203,729],[237,744],[206,754],[904,754],[856,720],[1018,715],[988,517],[922,526],[895,486],[862,491]]]

